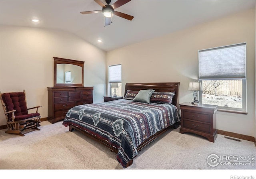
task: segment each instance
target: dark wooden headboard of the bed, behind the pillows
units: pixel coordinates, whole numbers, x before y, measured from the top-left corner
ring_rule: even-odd
[[[175,92],[172,98],[172,104],[175,105],[178,110],[180,110],[179,104],[179,85],[180,82],[176,83],[126,83],[124,96],[127,90],[139,91],[145,89],[154,89],[155,92]]]

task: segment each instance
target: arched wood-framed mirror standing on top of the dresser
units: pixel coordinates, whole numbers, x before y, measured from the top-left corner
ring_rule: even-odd
[[[54,59],[54,87],[83,87],[84,61]]]

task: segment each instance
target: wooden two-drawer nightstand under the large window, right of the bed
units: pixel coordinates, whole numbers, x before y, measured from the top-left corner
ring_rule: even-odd
[[[180,104],[181,127],[180,133],[190,132],[207,138],[214,142],[217,137],[216,130],[216,105],[191,104],[184,102]]]

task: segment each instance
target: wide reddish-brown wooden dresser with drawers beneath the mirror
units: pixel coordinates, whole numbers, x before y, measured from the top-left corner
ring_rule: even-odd
[[[63,120],[74,106],[92,103],[93,87],[48,87],[48,121]]]

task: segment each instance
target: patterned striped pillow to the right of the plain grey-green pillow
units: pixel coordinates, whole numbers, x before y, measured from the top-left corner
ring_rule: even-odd
[[[175,92],[154,92],[150,98],[152,103],[172,104],[172,98]]]

